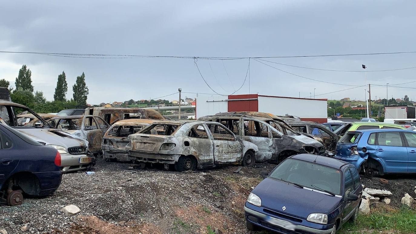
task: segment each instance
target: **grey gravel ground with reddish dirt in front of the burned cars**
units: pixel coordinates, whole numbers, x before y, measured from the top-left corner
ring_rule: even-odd
[[[15,233],[247,233],[245,200],[275,165],[230,166],[197,172],[128,170],[129,164],[106,163],[95,175],[63,175],[54,195],[27,198],[0,208],[0,229]],[[81,212],[67,216],[62,207]],[[27,231],[21,228],[27,226]]]

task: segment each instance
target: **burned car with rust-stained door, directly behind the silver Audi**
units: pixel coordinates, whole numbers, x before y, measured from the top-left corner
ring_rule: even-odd
[[[71,134],[75,138],[87,140],[88,149],[93,154],[101,154],[101,142],[104,133],[110,127],[98,116],[58,116],[51,118],[55,128]]]

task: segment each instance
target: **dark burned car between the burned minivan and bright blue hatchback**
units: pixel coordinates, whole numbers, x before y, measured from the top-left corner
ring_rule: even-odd
[[[288,121],[286,123],[301,133],[307,133],[321,138],[321,142],[327,150],[327,155],[335,155],[339,136],[329,131],[325,126],[310,121]]]

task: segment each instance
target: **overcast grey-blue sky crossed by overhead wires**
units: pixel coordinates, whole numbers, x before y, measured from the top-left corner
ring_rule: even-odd
[[[415,1],[4,1],[0,51],[84,54],[134,54],[190,57],[269,57],[416,51]],[[301,67],[368,71],[416,67],[416,54],[267,59]],[[213,93],[193,59],[87,59],[0,53],[0,79],[15,83],[18,70],[32,70],[35,90],[53,99],[57,76],[65,71],[67,98],[82,72],[88,103],[157,98],[178,88]],[[248,59],[197,60],[217,93],[242,86]],[[416,69],[336,72],[273,67],[311,79],[348,85],[416,81]],[[212,69],[211,69],[212,68]],[[416,87],[416,82],[400,86]],[[364,100],[364,87],[312,81],[250,60],[248,78],[235,94]],[[389,97],[416,100],[415,89],[389,87]],[[300,94],[299,94],[300,92]],[[194,97],[195,94],[183,94]],[[371,87],[375,99],[386,87]],[[164,99],[177,99],[177,95]]]

